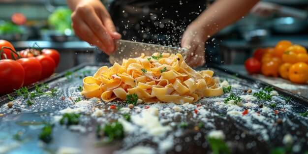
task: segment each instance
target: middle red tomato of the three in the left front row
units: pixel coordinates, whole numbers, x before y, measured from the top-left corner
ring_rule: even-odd
[[[25,80],[23,86],[28,86],[41,78],[42,65],[35,58],[21,58],[16,62],[19,62],[25,70]]]

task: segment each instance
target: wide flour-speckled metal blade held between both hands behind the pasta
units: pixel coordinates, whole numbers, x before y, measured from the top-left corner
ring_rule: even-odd
[[[111,64],[114,64],[115,62],[121,64],[123,59],[140,57],[141,53],[144,53],[145,56],[152,56],[155,52],[171,54],[180,53],[184,58],[186,58],[187,53],[187,49],[185,48],[176,48],[122,39],[117,40],[115,43],[116,51],[109,56],[109,62]]]

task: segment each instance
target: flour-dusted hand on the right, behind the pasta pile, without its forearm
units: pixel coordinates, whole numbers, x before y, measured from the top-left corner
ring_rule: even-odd
[[[202,66],[205,63],[204,32],[190,24],[182,37],[182,48],[188,48],[186,62],[191,67]]]

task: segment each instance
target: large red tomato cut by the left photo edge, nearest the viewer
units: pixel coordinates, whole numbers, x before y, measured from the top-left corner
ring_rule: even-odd
[[[25,70],[13,60],[0,61],[0,95],[13,92],[23,86]]]

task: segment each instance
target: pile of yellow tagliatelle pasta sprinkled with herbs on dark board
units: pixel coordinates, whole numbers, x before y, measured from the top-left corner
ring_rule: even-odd
[[[192,103],[205,96],[223,94],[211,70],[195,71],[181,54],[141,54],[123,60],[112,67],[100,67],[93,76],[83,79],[82,94],[109,102],[126,100],[127,94],[137,94],[138,103]]]

